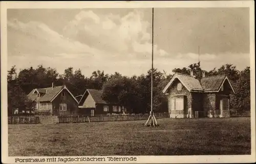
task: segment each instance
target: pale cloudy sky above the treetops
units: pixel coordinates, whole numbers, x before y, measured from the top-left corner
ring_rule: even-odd
[[[68,67],[132,76],[151,69],[152,9],[8,9],[8,69]],[[249,8],[155,8],[154,67],[249,66]],[[200,50],[199,50],[200,47]],[[198,55],[200,53],[200,56]]]

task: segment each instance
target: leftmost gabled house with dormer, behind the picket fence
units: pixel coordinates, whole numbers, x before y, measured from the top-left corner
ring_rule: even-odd
[[[35,114],[55,116],[77,115],[77,99],[66,86],[36,88],[28,98],[35,101]]]

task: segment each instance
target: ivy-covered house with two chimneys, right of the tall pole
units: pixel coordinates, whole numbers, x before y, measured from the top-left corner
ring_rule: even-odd
[[[229,117],[230,94],[234,94],[226,75],[197,79],[176,73],[163,90],[168,96],[170,118]]]

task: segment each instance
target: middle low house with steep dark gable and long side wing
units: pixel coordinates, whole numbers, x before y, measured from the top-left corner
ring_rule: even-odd
[[[101,96],[102,90],[87,89],[78,103],[79,114],[96,116],[123,113],[123,107],[121,105],[108,103]]]

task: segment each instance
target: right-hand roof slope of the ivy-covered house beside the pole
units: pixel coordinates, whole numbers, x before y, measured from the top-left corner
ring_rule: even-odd
[[[204,91],[218,91],[226,75],[210,76],[201,78]]]

